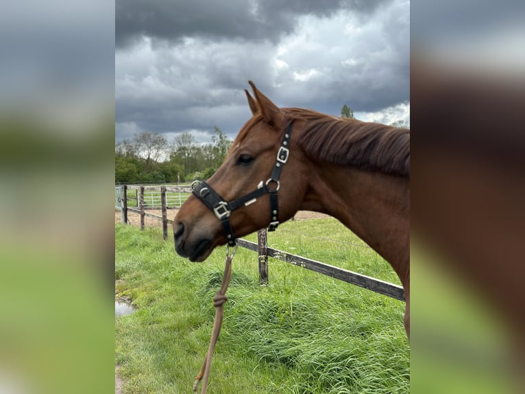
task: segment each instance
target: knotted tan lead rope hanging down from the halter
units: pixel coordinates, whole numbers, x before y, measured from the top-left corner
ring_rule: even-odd
[[[208,378],[210,377],[210,369],[212,364],[213,349],[215,349],[215,343],[217,343],[217,338],[219,338],[219,333],[221,332],[222,321],[224,316],[224,303],[228,301],[226,297],[226,290],[228,290],[228,285],[230,284],[230,277],[232,276],[232,259],[237,251],[238,244],[235,244],[232,254],[230,255],[230,246],[226,247],[226,262],[224,266],[224,275],[222,278],[221,288],[213,297],[213,306],[215,306],[215,320],[213,321],[213,331],[212,337],[210,339],[210,347],[208,347],[208,354],[204,358],[204,363],[202,368],[199,371],[195,382],[193,383],[193,393],[197,393],[199,389],[199,382],[202,380],[202,389],[201,394],[206,394],[206,389],[208,389]]]

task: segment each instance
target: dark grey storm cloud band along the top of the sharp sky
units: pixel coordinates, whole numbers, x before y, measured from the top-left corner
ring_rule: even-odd
[[[115,44],[131,45],[141,36],[180,40],[203,38],[268,39],[276,42],[293,31],[297,17],[330,16],[341,8],[374,10],[382,0],[117,0]]]

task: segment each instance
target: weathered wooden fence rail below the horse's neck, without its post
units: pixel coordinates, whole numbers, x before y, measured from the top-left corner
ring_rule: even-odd
[[[258,246],[254,242],[249,242],[246,240],[237,240],[237,242],[239,242],[239,246],[247,248],[250,251],[258,250]],[[339,279],[347,283],[352,283],[353,285],[360,286],[367,290],[384,294],[388,297],[392,297],[400,301],[405,301],[402,286],[382,281],[380,279],[368,277],[367,275],[354,273],[349,270],[344,270],[343,268],[331,266],[330,264],[306,259],[305,257],[291,255],[283,251],[278,251],[274,248],[267,248],[267,251],[270,257],[280,259],[283,262],[294,264],[295,266],[300,266],[303,268],[308,268],[309,270],[313,270],[316,273],[328,275],[329,277],[333,277],[335,279]]]

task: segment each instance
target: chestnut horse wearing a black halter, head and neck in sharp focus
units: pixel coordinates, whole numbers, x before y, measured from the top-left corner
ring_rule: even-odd
[[[328,213],[398,274],[410,338],[410,131],[278,108],[249,84],[253,116],[175,216],[175,251],[202,262],[216,246],[274,230],[300,209]]]

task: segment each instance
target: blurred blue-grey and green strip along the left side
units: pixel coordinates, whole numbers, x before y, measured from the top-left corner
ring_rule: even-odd
[[[0,12],[0,393],[114,385],[114,3]]]

